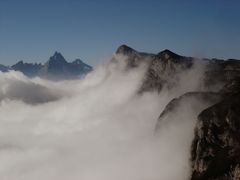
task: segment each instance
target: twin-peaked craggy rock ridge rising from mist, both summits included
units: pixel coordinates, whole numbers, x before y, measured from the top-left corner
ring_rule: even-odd
[[[145,91],[160,92],[163,86],[171,88],[177,82],[178,73],[190,69],[194,63],[193,58],[180,56],[167,49],[158,54],[151,54],[138,52],[122,45],[115,54],[124,56],[127,68],[137,67],[141,63],[147,65],[140,93]],[[116,59],[113,58],[112,61],[116,61]]]

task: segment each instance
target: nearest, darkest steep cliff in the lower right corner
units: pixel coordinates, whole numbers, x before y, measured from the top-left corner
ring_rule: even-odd
[[[191,150],[192,180],[240,178],[239,84],[231,82],[225,87],[230,90],[222,91],[223,100],[198,116]]]

